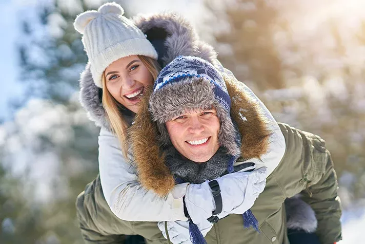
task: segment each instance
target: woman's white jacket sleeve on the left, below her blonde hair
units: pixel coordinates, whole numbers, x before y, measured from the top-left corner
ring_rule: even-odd
[[[120,143],[107,129],[99,135],[99,172],[104,197],[111,211],[129,221],[187,220],[183,196],[187,183],[178,184],[166,198],[138,184],[134,167],[121,153]]]

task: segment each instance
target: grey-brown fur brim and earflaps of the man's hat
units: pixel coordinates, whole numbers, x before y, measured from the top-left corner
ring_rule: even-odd
[[[155,92],[150,98],[150,112],[156,121],[161,145],[171,145],[165,123],[185,111],[198,109],[216,109],[221,123],[218,143],[227,149],[227,153],[239,156],[240,151],[235,141],[237,131],[233,126],[228,111],[215,99],[210,81],[202,78],[187,78],[178,83],[168,84]]]

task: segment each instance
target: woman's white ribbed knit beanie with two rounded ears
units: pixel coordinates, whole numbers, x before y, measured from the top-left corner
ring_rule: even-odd
[[[83,44],[90,62],[92,78],[102,88],[102,74],[114,61],[130,55],[144,55],[157,60],[157,52],[145,34],[116,3],[106,3],[95,11],[79,14],[75,29],[83,34]]]

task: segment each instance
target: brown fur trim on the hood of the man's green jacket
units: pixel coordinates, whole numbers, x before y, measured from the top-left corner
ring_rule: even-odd
[[[265,114],[251,97],[242,91],[240,82],[225,76],[228,93],[232,100],[231,116],[241,133],[241,154],[245,158],[260,158],[267,152],[270,130]],[[165,155],[160,151],[157,124],[152,121],[148,102],[151,93],[145,94],[139,103],[138,114],[129,129],[129,139],[135,158],[139,181],[147,190],[159,196],[167,195],[174,187],[174,178],[165,165]],[[245,109],[246,120],[241,120],[241,108]],[[250,123],[247,123],[250,121]]]

